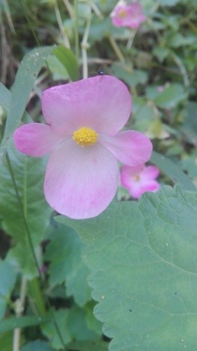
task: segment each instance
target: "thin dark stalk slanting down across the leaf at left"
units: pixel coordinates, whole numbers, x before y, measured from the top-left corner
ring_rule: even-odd
[[[14,176],[14,173],[13,173],[13,168],[12,168],[12,166],[11,166],[11,161],[10,161],[10,158],[8,157],[8,154],[6,154],[6,161],[7,161],[7,165],[8,165],[8,171],[9,171],[10,174],[11,174],[11,179],[12,179],[12,182],[13,182],[13,187],[14,187],[14,190],[15,190],[16,198],[17,198],[17,200],[18,200],[18,206],[19,206],[20,212],[21,212],[21,214],[22,214],[22,220],[23,220],[23,223],[24,223],[24,226],[25,226],[25,231],[27,232],[27,238],[28,238],[28,241],[29,241],[30,249],[31,249],[31,251],[32,251],[32,256],[33,256],[33,258],[34,258],[34,263],[35,263],[36,268],[37,268],[37,270],[38,270],[38,273],[39,273],[39,277],[40,277],[40,279],[41,279],[41,282],[43,282],[43,284],[44,284],[43,277],[42,277],[42,275],[41,275],[41,271],[40,271],[40,268],[39,268],[39,263],[38,263],[38,260],[37,260],[37,258],[36,258],[36,254],[35,254],[35,252],[34,252],[34,246],[33,246],[33,243],[32,243],[32,238],[31,238],[31,235],[30,235],[30,232],[29,232],[29,227],[28,227],[28,224],[27,224],[27,220],[26,220],[26,218],[25,218],[25,213],[24,213],[24,211],[23,211],[22,202],[21,202],[21,200],[20,200],[20,195],[19,195],[19,192],[18,192],[18,186],[17,186],[16,181],[15,181],[15,176]],[[55,314],[54,314],[54,312],[53,312],[53,309],[52,309],[51,306],[50,306],[50,302],[49,302],[47,296],[46,296],[46,304],[47,304],[48,310],[50,311],[50,313],[51,313],[51,315],[52,315],[53,324],[54,324],[55,329],[56,329],[56,331],[57,331],[57,334],[58,334],[58,336],[59,336],[59,338],[60,338],[60,341],[61,341],[61,343],[62,343],[62,346],[63,346],[64,350],[66,350],[66,346],[65,346],[65,344],[64,344],[64,340],[63,340],[63,338],[62,338],[62,334],[61,334],[60,329],[59,329],[59,327],[58,327],[58,325],[57,325],[57,322],[56,322],[56,320],[55,320]]]

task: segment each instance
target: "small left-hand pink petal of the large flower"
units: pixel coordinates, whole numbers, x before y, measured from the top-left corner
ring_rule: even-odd
[[[18,128],[14,135],[15,147],[29,156],[42,157],[64,139],[46,124],[30,123]]]

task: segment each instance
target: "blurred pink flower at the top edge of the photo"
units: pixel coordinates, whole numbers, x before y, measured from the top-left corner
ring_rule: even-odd
[[[116,27],[130,27],[137,29],[146,20],[142,13],[142,6],[138,2],[125,5],[118,3],[110,14],[111,20]]]

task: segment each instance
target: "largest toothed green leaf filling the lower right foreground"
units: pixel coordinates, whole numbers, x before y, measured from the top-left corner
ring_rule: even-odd
[[[196,193],[163,187],[97,218],[56,220],[86,241],[95,317],[113,338],[109,350],[195,350]]]

